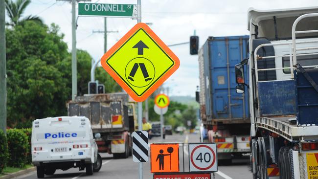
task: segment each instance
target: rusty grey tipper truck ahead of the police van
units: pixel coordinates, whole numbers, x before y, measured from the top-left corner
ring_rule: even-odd
[[[98,152],[114,158],[132,155],[132,133],[137,124],[135,103],[126,92],[85,94],[67,103],[68,116],[85,116],[91,120]]]

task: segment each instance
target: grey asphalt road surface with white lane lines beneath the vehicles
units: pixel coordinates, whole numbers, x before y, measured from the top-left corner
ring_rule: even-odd
[[[160,137],[153,137],[149,143],[161,142]],[[199,142],[198,134],[173,134],[166,135],[164,142]],[[184,171],[189,171],[187,146],[184,147]],[[183,171],[182,146],[180,147],[180,172]],[[126,159],[113,159],[113,155],[102,154],[103,166],[101,170],[92,176],[86,176],[85,170],[78,171],[78,168],[72,168],[67,171],[57,170],[52,176],[45,176],[47,179],[138,179],[138,164],[133,162],[132,157]],[[248,166],[248,159],[233,159],[230,166],[218,166],[218,172],[215,173],[215,179],[252,179]],[[16,179],[36,179],[36,172],[32,172]],[[149,161],[143,164],[143,178],[153,179],[150,173]],[[213,179],[213,177],[212,177]]]

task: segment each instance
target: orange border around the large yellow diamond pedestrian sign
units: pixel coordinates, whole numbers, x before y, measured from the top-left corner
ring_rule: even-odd
[[[129,88],[129,86],[114,72],[114,70],[109,67],[106,63],[109,57],[111,57],[122,45],[130,39],[132,35],[139,29],[143,29],[147,34],[161,47],[162,50],[174,61],[174,65],[164,73],[159,80],[150,87],[144,94],[137,96],[135,92]],[[132,29],[130,29],[112,48],[110,48],[101,58],[100,61],[102,67],[114,78],[114,80],[123,88],[135,101],[143,102],[149,97],[155,90],[159,88],[179,67],[179,58],[170,50],[170,48],[165,45],[154,31],[145,23],[137,23]]]

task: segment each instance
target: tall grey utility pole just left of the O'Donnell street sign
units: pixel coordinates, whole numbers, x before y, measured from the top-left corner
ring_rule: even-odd
[[[76,0],[72,0],[72,100],[77,95],[77,67],[76,67]]]

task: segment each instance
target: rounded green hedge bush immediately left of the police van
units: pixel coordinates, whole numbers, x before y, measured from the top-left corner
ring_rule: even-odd
[[[7,130],[10,167],[24,167],[26,164],[27,150],[29,147],[27,135],[19,129]]]

